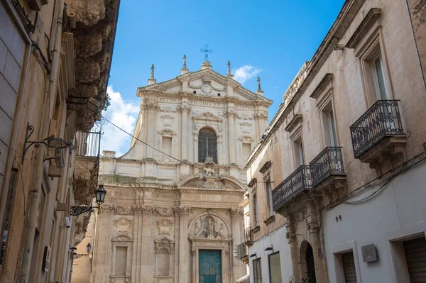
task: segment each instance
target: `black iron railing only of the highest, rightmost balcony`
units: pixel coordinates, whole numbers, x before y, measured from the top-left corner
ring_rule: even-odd
[[[378,100],[350,128],[355,158],[386,136],[404,135],[399,100]]]

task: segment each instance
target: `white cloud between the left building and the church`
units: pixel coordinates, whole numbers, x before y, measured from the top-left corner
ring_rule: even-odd
[[[111,97],[111,105],[108,106],[107,111],[102,111],[102,115],[127,133],[133,134],[139,113],[138,105],[124,101],[121,94],[114,91],[111,85],[108,86],[107,93]],[[124,155],[129,150],[131,136],[107,121],[105,121],[103,128],[101,150],[114,150],[116,157]]]

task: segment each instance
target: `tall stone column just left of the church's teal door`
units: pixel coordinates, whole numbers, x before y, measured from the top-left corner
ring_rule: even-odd
[[[178,207],[175,211],[180,215],[180,232],[179,232],[179,283],[188,282],[188,215],[190,209],[187,207]]]

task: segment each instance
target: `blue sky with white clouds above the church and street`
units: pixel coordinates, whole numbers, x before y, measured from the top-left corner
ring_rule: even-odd
[[[133,133],[151,64],[162,82],[187,68],[200,70],[208,44],[213,70],[226,74],[226,62],[243,86],[256,91],[261,77],[265,96],[274,101],[273,117],[288,84],[310,60],[337,17],[344,0],[281,1],[136,1],[121,0],[109,79],[111,106],[104,116]],[[235,77],[234,77],[235,78]],[[130,138],[105,126],[104,150],[116,156],[129,149]]]

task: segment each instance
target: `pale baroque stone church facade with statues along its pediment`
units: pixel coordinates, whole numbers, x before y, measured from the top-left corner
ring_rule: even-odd
[[[209,61],[157,83],[154,68],[137,90],[141,111],[129,152],[104,151],[107,189],[94,233],[92,282],[234,282],[246,266],[239,204],[244,165],[268,126],[256,93],[214,72]]]

